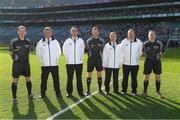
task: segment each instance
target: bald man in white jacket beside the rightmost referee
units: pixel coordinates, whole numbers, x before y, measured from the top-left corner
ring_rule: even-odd
[[[128,37],[121,42],[121,53],[123,62],[123,81],[121,94],[126,94],[128,77],[131,72],[132,94],[137,94],[137,74],[139,70],[139,59],[142,55],[142,42],[135,38],[133,29],[128,30]]]

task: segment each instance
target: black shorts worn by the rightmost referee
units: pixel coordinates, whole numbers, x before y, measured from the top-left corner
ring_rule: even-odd
[[[144,74],[151,74],[152,70],[154,74],[161,74],[162,73],[161,61],[152,61],[146,59],[144,62]]]

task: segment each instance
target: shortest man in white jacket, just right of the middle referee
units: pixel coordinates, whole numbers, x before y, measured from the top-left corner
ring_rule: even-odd
[[[119,93],[119,84],[118,84],[118,77],[119,77],[119,68],[121,65],[120,61],[120,44],[116,41],[117,34],[115,32],[111,32],[110,41],[105,44],[103,49],[103,67],[105,68],[105,94],[108,95],[110,88],[110,80],[111,74],[113,73],[113,87],[114,93]]]

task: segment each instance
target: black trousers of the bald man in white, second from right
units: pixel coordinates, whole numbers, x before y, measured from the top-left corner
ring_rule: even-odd
[[[122,81],[122,92],[127,92],[129,73],[131,73],[131,88],[132,93],[137,92],[137,75],[139,71],[139,65],[129,66],[123,65],[123,81]]]

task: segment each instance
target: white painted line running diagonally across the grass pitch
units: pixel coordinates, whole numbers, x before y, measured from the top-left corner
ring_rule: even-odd
[[[119,80],[121,80],[121,79],[122,79],[122,77],[119,78]],[[111,82],[110,84],[112,84],[112,82]],[[105,88],[105,87],[103,87],[102,89],[104,89],[104,88]],[[76,103],[73,103],[72,105],[64,108],[63,110],[55,113],[53,116],[47,118],[47,120],[53,120],[53,119],[56,118],[57,116],[65,113],[66,111],[70,110],[71,108],[76,107],[77,105],[79,105],[80,103],[84,102],[86,99],[90,98],[91,96],[97,94],[98,92],[99,92],[99,91],[97,90],[97,91],[93,92],[92,94],[90,94],[90,95],[88,95],[88,96],[85,96],[84,98],[80,99],[80,100],[77,101]]]

